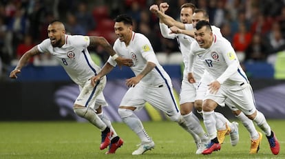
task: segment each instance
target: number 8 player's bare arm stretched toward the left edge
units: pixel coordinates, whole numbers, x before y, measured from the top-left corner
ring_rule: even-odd
[[[28,61],[30,60],[30,58],[36,54],[40,54],[41,52],[39,52],[38,47],[34,46],[32,47],[31,50],[29,50],[28,52],[25,52],[25,54],[23,54],[23,56],[21,56],[21,59],[19,60],[17,66],[14,68],[14,70],[12,70],[12,72],[10,72],[10,78],[18,78],[17,74],[19,72],[21,72],[22,67],[28,63]]]

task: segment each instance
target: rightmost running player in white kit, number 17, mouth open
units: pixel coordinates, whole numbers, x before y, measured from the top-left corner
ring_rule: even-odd
[[[191,43],[189,61],[189,82],[194,83],[193,58],[203,61],[205,69],[214,81],[209,83],[202,103],[204,125],[209,133],[211,142],[202,153],[210,154],[218,151],[221,145],[218,141],[215,128],[214,109],[218,105],[224,106],[225,100],[235,105],[248,118],[257,124],[268,139],[274,155],[279,153],[279,142],[268,125],[264,115],[255,108],[253,90],[246,74],[240,67],[231,43],[222,36],[213,34],[209,21],[199,21],[194,30],[196,41]],[[206,77],[207,78],[207,77]]]

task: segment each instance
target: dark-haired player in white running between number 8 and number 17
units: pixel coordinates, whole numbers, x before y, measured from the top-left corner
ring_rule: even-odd
[[[147,37],[133,32],[131,17],[121,14],[115,19],[114,30],[118,39],[114,50],[118,56],[133,59],[131,70],[135,76],[126,80],[129,87],[118,108],[123,122],[140,138],[140,146],[132,155],[141,155],[154,148],[154,141],[149,137],[140,119],[134,114],[148,102],[169,116],[170,120],[182,125],[186,123],[180,115],[173,96],[171,78],[158,63],[156,54]],[[116,66],[116,61],[109,58],[97,76],[92,77],[94,86],[105,74]],[[186,126],[186,125],[185,125]]]

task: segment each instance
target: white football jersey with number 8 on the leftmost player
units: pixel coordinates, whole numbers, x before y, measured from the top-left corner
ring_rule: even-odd
[[[89,37],[81,35],[65,35],[62,47],[53,47],[50,39],[45,39],[37,47],[40,52],[50,52],[61,63],[67,74],[81,87],[101,69],[96,65],[87,50]]]

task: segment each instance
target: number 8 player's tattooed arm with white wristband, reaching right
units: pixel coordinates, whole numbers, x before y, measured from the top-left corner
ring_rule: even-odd
[[[133,65],[133,61],[131,59],[125,59],[123,57],[118,56],[116,52],[113,50],[112,46],[108,43],[108,41],[103,36],[89,36],[90,46],[101,45],[108,53],[112,56],[118,65]]]

